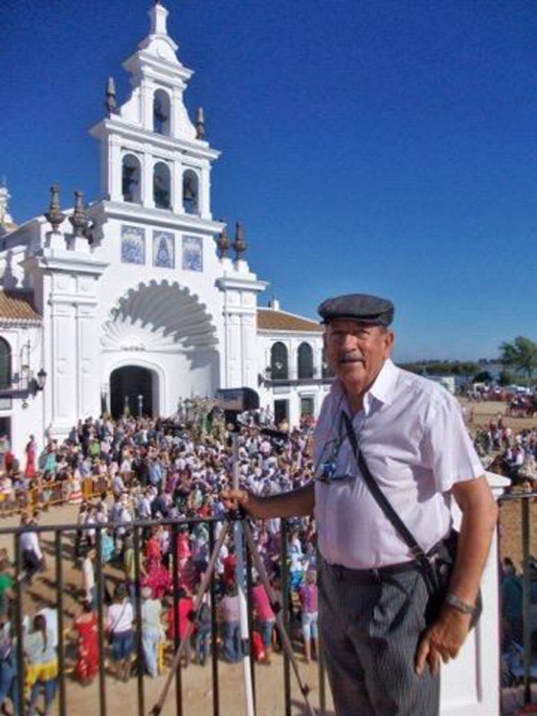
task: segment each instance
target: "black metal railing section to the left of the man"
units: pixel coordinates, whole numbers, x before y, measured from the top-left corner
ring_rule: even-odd
[[[208,519],[180,519],[171,520],[163,519],[158,521],[136,521],[130,523],[105,523],[102,525],[91,524],[91,525],[76,525],[76,524],[61,524],[52,526],[31,526],[31,527],[20,527],[20,528],[1,528],[0,529],[0,540],[4,541],[6,538],[12,538],[14,541],[14,594],[12,595],[10,603],[10,614],[9,619],[11,620],[11,634],[12,634],[12,650],[14,662],[16,662],[16,692],[18,695],[19,706],[16,707],[16,700],[14,700],[14,716],[26,716],[29,713],[29,707],[27,702],[28,688],[25,685],[24,675],[27,673],[27,664],[25,658],[25,629],[24,629],[24,613],[29,611],[30,600],[39,597],[39,601],[43,601],[43,593],[41,595],[36,594],[34,586],[38,589],[42,588],[42,584],[46,582],[46,589],[51,590],[53,593],[52,599],[44,600],[48,601],[53,608],[57,611],[57,662],[58,662],[58,676],[57,676],[57,713],[59,716],[66,716],[69,713],[67,705],[67,691],[72,688],[71,679],[69,678],[70,665],[72,664],[73,657],[69,644],[67,643],[67,626],[69,623],[69,617],[72,614],[67,609],[66,595],[67,595],[67,584],[66,584],[66,567],[69,568],[70,563],[77,558],[74,550],[74,538],[80,536],[81,533],[86,531],[95,531],[95,550],[97,552],[95,562],[95,586],[96,586],[96,606],[95,611],[97,614],[97,643],[98,643],[98,673],[97,673],[97,704],[92,707],[92,713],[97,711],[100,716],[107,716],[113,711],[109,707],[110,690],[108,686],[110,684],[110,677],[107,674],[107,665],[105,663],[105,654],[107,653],[107,629],[105,625],[105,584],[107,579],[112,579],[112,576],[117,579],[117,573],[112,574],[112,569],[109,570],[103,560],[102,547],[103,547],[103,535],[104,532],[110,529],[127,530],[133,539],[134,548],[134,565],[135,565],[135,580],[134,584],[134,596],[135,596],[135,621],[134,621],[134,644],[135,644],[135,676],[131,680],[136,681],[137,685],[137,714],[138,716],[145,716],[150,712],[153,707],[153,699],[155,689],[152,689],[151,697],[147,695],[147,679],[145,677],[144,670],[144,657],[142,647],[142,599],[141,599],[141,573],[140,565],[142,564],[142,536],[147,534],[155,526],[165,526],[170,528],[171,540],[170,540],[170,552],[171,552],[171,566],[173,570],[173,589],[172,589],[172,606],[173,609],[173,639],[171,644],[171,652],[175,652],[178,645],[180,644],[181,633],[180,633],[180,619],[178,604],[179,604],[179,554],[178,554],[178,534],[182,526],[193,528],[194,526],[203,523],[208,528],[209,536],[209,549],[212,552],[215,544],[215,531],[218,524],[218,520],[215,518]],[[36,579],[34,586],[30,589],[27,586],[25,580],[25,569],[24,560],[25,555],[21,546],[21,538],[24,533],[34,532],[37,533],[40,541],[42,542],[42,548],[53,553],[54,558],[54,569],[52,574],[50,570],[47,570],[47,576],[44,574],[37,573],[34,576]],[[286,628],[291,627],[291,614],[289,611],[289,574],[287,569],[288,554],[287,554],[287,533],[288,527],[286,521],[281,521],[281,594],[283,601],[284,610],[284,621]],[[45,537],[52,535],[53,539],[46,540]],[[246,550],[246,584],[250,586],[252,584],[252,559]],[[79,574],[79,573],[77,573]],[[41,584],[41,580],[43,580]],[[213,716],[219,716],[221,714],[221,679],[220,669],[221,662],[219,659],[218,649],[218,618],[217,618],[217,581],[216,576],[213,574],[211,577],[210,584],[211,594],[211,682],[212,682],[212,705],[211,712]],[[246,589],[247,606],[248,606],[248,624],[250,627],[253,625],[253,610],[251,602],[251,590]],[[193,618],[193,615],[191,615]],[[251,633],[251,632],[250,632]],[[252,650],[253,642],[250,639],[248,644],[244,644],[244,648],[250,650],[251,656],[251,676],[254,686],[256,684],[256,664],[253,658]],[[69,652],[69,654],[68,654]],[[291,716],[291,710],[293,706],[293,692],[291,689],[291,670],[289,668],[289,657],[283,654],[283,689],[281,690],[281,711],[286,716]],[[263,667],[264,668],[264,667]],[[324,666],[319,657],[319,671],[316,674],[318,682],[316,684],[310,684],[314,687],[314,690],[318,690],[318,701],[319,701],[319,714],[324,715],[326,713],[326,684]],[[170,711],[170,707],[167,702],[165,713],[175,713],[177,716],[183,716],[187,711],[184,707],[184,692],[183,692],[183,667],[178,667],[175,673],[175,693],[168,695],[168,702],[172,702],[173,707]],[[278,697],[278,695],[276,695]],[[191,705],[190,705],[191,706]],[[1,704],[0,704],[1,707]],[[56,710],[56,709],[55,709]],[[278,707],[279,710],[279,707]],[[199,713],[201,710],[196,709],[195,711],[189,710],[189,713]]]

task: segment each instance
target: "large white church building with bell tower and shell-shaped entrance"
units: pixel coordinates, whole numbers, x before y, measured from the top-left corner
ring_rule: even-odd
[[[90,130],[101,195],[16,226],[0,188],[0,435],[16,453],[33,433],[61,439],[79,418],[125,407],[173,415],[180,400],[252,387],[290,425],[329,390],[321,326],[260,308],[268,285],[244,258],[237,224],[211,212],[203,110],[183,95],[192,75],[150,9],[150,34],[123,68],[132,92]]]

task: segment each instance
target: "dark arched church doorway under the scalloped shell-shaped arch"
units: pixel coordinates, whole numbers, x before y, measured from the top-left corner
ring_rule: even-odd
[[[125,365],[110,374],[110,412],[114,419],[128,407],[130,415],[153,417],[158,412],[158,377],[140,365]]]

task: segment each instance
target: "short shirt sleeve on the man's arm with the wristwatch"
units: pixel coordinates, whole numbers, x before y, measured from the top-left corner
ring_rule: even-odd
[[[458,402],[448,393],[428,412],[421,450],[422,464],[432,470],[439,492],[448,492],[455,483],[479,478],[485,472]]]

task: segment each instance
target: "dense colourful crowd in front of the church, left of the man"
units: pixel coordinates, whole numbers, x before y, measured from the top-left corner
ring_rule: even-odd
[[[214,530],[218,538],[226,519],[220,494],[232,471],[228,433],[221,416],[212,417],[205,429],[180,420],[145,417],[88,419],[73,427],[64,442],[51,438],[41,455],[32,436],[25,460],[17,460],[4,449],[0,483],[11,480],[11,485],[19,482],[32,489],[34,483],[41,481],[41,496],[42,485],[50,490],[55,485],[69,485],[69,501],[79,503],[78,529],[72,545],[72,574],[79,580],[79,606],[71,624],[74,652],[68,662],[82,684],[95,679],[101,654],[110,662],[117,679],[127,681],[132,664],[156,677],[188,628],[192,637],[188,639],[183,664],[193,660],[203,665],[208,660],[213,633],[210,594],[203,597],[195,619],[193,605],[210,557],[210,527],[204,520],[216,518]],[[256,493],[274,494],[299,487],[311,478],[309,421],[289,432],[289,439],[279,441],[263,436],[253,417],[246,417],[238,438],[241,483]],[[99,480],[100,487],[91,500],[84,499],[80,487],[88,478]],[[188,523],[177,523],[178,519],[188,518]],[[40,572],[46,568],[41,533],[32,531],[38,520],[37,513],[22,513],[21,524],[28,528],[20,545],[23,588],[39,580]],[[135,535],[135,522],[152,520],[157,522],[139,528]],[[301,518],[289,524],[286,594],[281,593],[280,521],[271,519],[253,528],[271,586],[279,601],[288,601],[291,625],[301,634],[304,659],[309,661],[318,650],[314,522]],[[137,535],[139,545],[135,544]],[[103,566],[105,643],[98,639],[97,563]],[[4,574],[9,585],[2,595]],[[6,556],[6,564],[0,565],[0,599],[5,606],[1,611],[0,703],[11,697],[16,706],[16,644],[10,609],[14,592],[10,574]],[[243,644],[231,531],[218,554],[215,577],[218,655],[237,662],[243,658]],[[254,657],[269,664],[272,650],[279,648],[274,629],[276,616],[274,603],[255,570],[250,595]],[[136,659],[138,635],[142,664]],[[35,712],[40,691],[44,692],[46,712],[50,710],[57,683],[57,646],[55,609],[47,607],[44,613],[39,611],[25,620],[25,681],[31,713]]]

